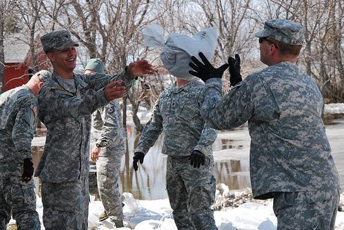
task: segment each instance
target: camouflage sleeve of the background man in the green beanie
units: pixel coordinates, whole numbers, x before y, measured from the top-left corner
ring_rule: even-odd
[[[101,111],[103,126],[100,132],[100,137],[96,143],[102,147],[116,145],[122,138],[122,132],[120,132],[122,124],[120,124],[120,120],[117,117],[118,109],[120,109],[118,103],[112,101]]]

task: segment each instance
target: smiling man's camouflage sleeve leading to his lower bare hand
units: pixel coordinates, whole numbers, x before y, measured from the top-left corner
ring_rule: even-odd
[[[104,90],[87,90],[83,97],[56,87],[44,87],[39,92],[39,118],[43,123],[52,120],[88,116],[98,107],[108,103]]]

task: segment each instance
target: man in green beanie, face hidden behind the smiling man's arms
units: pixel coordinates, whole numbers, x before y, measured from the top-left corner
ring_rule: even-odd
[[[85,74],[104,73],[105,65],[100,59],[89,59]],[[99,220],[111,216],[116,227],[123,227],[122,201],[118,187],[120,161],[125,154],[125,129],[122,127],[120,103],[110,101],[92,114],[91,159],[96,162],[97,184],[105,211]]]

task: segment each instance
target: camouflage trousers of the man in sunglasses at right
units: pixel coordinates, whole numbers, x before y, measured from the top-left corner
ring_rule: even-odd
[[[332,230],[339,204],[339,190],[279,192],[274,196],[277,230]]]

